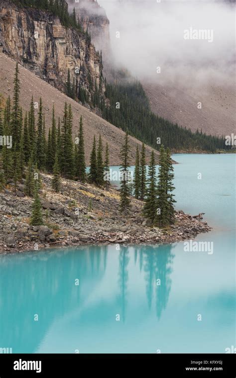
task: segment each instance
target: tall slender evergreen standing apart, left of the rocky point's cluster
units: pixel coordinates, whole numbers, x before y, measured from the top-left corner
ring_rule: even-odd
[[[129,152],[130,146],[128,143],[128,131],[126,131],[124,137],[124,143],[120,149],[120,159],[121,159],[121,182],[120,182],[120,211],[124,214],[127,214],[130,209],[130,199],[129,199]]]

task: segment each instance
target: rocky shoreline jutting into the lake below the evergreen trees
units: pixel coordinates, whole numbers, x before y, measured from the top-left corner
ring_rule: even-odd
[[[140,214],[143,204],[132,198],[132,211],[119,214],[119,193],[71,180],[62,180],[61,193],[50,189],[51,176],[42,174],[40,191],[44,226],[30,226],[32,198],[19,183],[0,192],[0,253],[24,252],[45,248],[99,244],[163,244],[194,239],[211,231],[201,216],[176,212],[174,225],[151,228]]]

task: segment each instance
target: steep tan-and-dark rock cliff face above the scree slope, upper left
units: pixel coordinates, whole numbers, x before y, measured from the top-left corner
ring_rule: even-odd
[[[13,59],[61,91],[68,69],[71,81],[91,99],[95,86],[105,91],[100,54],[88,36],[64,27],[51,12],[0,1],[0,45]]]

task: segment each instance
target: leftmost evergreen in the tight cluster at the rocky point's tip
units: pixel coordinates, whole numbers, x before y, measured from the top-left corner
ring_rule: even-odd
[[[156,209],[157,209],[157,199],[156,199],[156,165],[154,151],[151,152],[150,163],[148,166],[148,187],[146,190],[145,204],[143,208],[143,213],[145,217],[150,220],[151,224],[154,224],[156,220]]]

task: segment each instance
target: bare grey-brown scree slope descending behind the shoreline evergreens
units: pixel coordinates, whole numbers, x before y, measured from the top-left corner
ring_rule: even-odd
[[[5,54],[0,53],[0,93],[6,98],[8,95],[12,97],[13,90],[13,75],[15,70],[15,61]],[[78,135],[80,116],[83,117],[84,134],[85,134],[85,153],[86,164],[89,165],[90,153],[92,149],[92,142],[94,134],[98,137],[101,134],[103,142],[108,142],[110,148],[110,163],[111,165],[118,165],[120,163],[119,150],[123,142],[124,132],[116,126],[110,124],[89,109],[83,107],[76,101],[70,99],[56,88],[50,86],[45,81],[39,79],[32,72],[19,65],[19,79],[20,79],[20,103],[23,112],[27,111],[33,95],[34,101],[39,102],[42,97],[43,109],[45,113],[46,130],[51,126],[51,110],[54,104],[55,114],[62,118],[64,103],[67,102],[72,106],[74,116],[73,133]],[[135,161],[136,144],[141,147],[141,142],[130,136],[131,146],[131,163]],[[151,147],[146,146],[147,161],[149,161]],[[158,158],[159,153],[155,151],[155,156]]]

